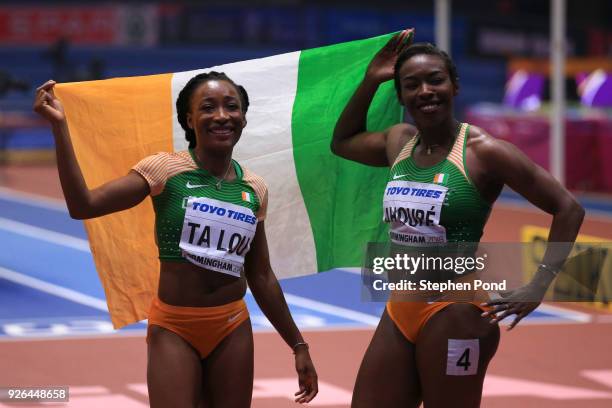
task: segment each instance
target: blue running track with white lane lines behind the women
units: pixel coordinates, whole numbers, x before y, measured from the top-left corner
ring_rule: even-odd
[[[142,335],[145,324],[112,329],[83,224],[59,201],[0,189],[0,338]],[[281,282],[297,324],[309,329],[376,325],[383,303],[360,299],[360,276],[332,270]],[[256,331],[271,325],[251,294]],[[579,322],[583,315],[544,307],[527,323]]]

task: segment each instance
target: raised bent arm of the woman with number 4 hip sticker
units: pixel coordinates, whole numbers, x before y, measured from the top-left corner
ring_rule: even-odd
[[[390,164],[389,149],[397,150],[395,145],[405,135],[408,125],[400,124],[385,131],[368,132],[368,109],[379,85],[393,79],[395,61],[402,50],[411,44],[413,34],[414,30],[410,29],[394,35],[368,65],[365,77],[336,123],[331,142],[334,154],[371,166]]]

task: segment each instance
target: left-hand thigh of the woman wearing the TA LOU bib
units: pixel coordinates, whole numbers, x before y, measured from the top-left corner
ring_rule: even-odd
[[[201,384],[198,352],[179,335],[151,325],[147,364],[151,407],[193,408],[200,399]]]

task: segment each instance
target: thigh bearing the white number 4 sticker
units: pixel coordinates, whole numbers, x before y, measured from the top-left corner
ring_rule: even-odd
[[[417,339],[416,359],[427,408],[480,406],[482,384],[499,343],[499,327],[473,304],[436,313]]]

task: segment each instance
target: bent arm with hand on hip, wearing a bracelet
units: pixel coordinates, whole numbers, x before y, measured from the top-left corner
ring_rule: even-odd
[[[547,246],[542,265],[532,281],[509,298],[490,302],[490,305],[497,305],[497,309],[487,314],[501,311],[494,321],[517,315],[509,326],[511,329],[537,307],[539,303],[533,302],[534,298],[543,298],[555,272],[562,267],[572,249],[585,212],[567,189],[514,145],[485,135],[477,144],[476,152],[490,174],[553,216],[548,235],[548,242],[552,245]]]

